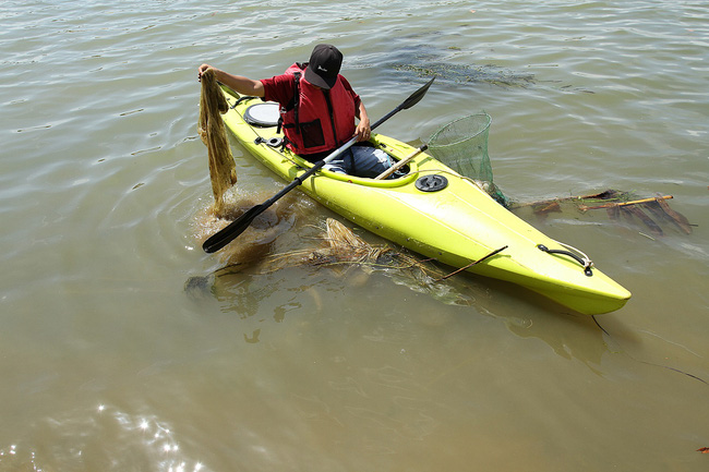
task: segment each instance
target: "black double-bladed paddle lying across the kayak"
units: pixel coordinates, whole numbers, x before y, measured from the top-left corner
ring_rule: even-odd
[[[381,120],[378,120],[376,123],[372,125],[372,130],[374,130],[376,126],[380,124],[384,123],[386,120],[392,118],[394,114],[398,113],[401,110],[408,110],[409,108],[413,107],[416,104],[421,101],[425,93],[429,90],[429,87],[431,84],[433,84],[433,81],[435,77],[431,78],[424,86],[416,90],[409,98],[404,100],[401,105],[396,107],[394,110],[389,111],[386,116],[384,116]],[[265,211],[271,205],[276,203],[279,198],[281,198],[284,195],[286,195],[288,192],[297,187],[298,185],[301,185],[305,179],[308,179],[310,176],[313,173],[317,172],[323,166],[325,166],[327,162],[331,160],[335,159],[337,156],[343,154],[345,150],[349,149],[354,143],[357,142],[357,137],[352,137],[350,141],[347,143],[343,144],[340,147],[337,149],[333,150],[325,159],[317,161],[313,167],[311,167],[308,171],[305,171],[303,174],[298,176],[291,183],[289,183],[286,187],[284,187],[280,192],[262,203],[261,205],[256,205],[249,209],[247,213],[241,215],[239,218],[233,220],[232,222],[229,223],[226,228],[221,229],[211,238],[208,238],[204,244],[202,244],[202,249],[206,253],[214,253],[219,251],[221,247],[226,246],[229,244],[235,238],[237,238],[239,234],[245,231],[247,228],[251,225],[251,222],[256,218],[259,215],[261,215],[263,211]]]

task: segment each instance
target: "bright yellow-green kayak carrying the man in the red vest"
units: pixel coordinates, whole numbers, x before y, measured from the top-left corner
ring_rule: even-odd
[[[224,93],[230,106],[224,121],[254,157],[286,181],[312,168],[283,146],[275,124],[277,104],[240,97],[227,88]],[[373,134],[371,143],[394,160],[417,150],[381,134]],[[385,180],[320,169],[300,187],[396,244],[455,268],[470,266],[473,274],[526,287],[576,312],[612,312],[630,298],[582,253],[532,228],[429,154],[419,153],[404,169],[404,176]]]

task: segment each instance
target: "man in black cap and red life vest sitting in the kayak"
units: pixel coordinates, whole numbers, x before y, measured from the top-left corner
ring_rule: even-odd
[[[363,143],[372,132],[364,104],[339,74],[343,53],[332,45],[317,45],[310,61],[295,63],[285,74],[253,81],[202,64],[197,78],[214,69],[217,81],[242,95],[262,97],[280,105],[283,130],[288,147],[311,162],[324,159],[352,136]],[[297,96],[298,95],[298,96]],[[354,124],[354,119],[359,123]],[[359,177],[376,177],[392,166],[386,153],[372,146],[354,145],[326,169]]]

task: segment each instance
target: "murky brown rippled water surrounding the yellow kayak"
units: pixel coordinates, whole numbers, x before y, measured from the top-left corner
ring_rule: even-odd
[[[8,1],[0,24],[1,471],[709,467],[701,2]],[[382,132],[484,109],[508,196],[671,194],[693,234],[525,216],[633,292],[602,329],[473,277],[215,273],[196,66],[268,76],[319,41],[374,118],[444,75]],[[240,192],[283,186],[232,150]],[[257,247],[315,243],[333,214],[293,195]]]

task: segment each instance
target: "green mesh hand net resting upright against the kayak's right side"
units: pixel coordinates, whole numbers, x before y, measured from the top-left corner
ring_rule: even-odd
[[[488,133],[492,119],[480,112],[452,121],[429,140],[429,152],[459,174],[472,179],[497,203],[509,201],[492,181],[492,165],[488,156]]]

